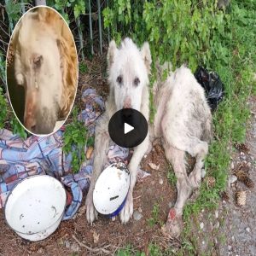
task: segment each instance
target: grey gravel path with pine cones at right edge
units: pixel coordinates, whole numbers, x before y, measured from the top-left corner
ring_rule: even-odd
[[[256,97],[247,102],[251,119],[246,143],[235,145],[230,158],[226,193],[215,212],[204,209],[195,219],[193,236],[198,255],[256,255]],[[245,181],[235,173],[245,174]],[[244,206],[237,204],[237,192],[245,191]],[[207,236],[206,236],[207,235]]]

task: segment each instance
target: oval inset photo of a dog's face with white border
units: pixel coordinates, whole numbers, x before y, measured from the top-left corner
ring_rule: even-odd
[[[78,55],[62,16],[30,9],[12,34],[6,61],[9,102],[27,131],[49,135],[65,123],[78,84]]]

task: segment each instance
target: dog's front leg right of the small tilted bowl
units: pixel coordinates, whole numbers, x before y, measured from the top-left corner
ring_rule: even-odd
[[[144,139],[143,143],[134,148],[134,153],[131,157],[128,169],[130,171],[131,183],[130,189],[125,202],[125,207],[120,212],[120,219],[123,224],[127,223],[133,213],[133,197],[132,192],[137,179],[137,168],[143,159],[143,155],[147,152],[149,145],[149,135]]]

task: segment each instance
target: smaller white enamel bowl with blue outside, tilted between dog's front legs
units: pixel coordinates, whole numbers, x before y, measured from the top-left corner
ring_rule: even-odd
[[[125,206],[130,188],[130,172],[124,163],[114,163],[103,170],[93,191],[93,204],[97,212],[116,216]]]

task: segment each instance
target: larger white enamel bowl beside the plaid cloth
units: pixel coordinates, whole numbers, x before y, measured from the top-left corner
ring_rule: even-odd
[[[55,177],[27,177],[9,193],[4,209],[5,219],[22,238],[40,241],[58,228],[66,201],[66,191]]]

